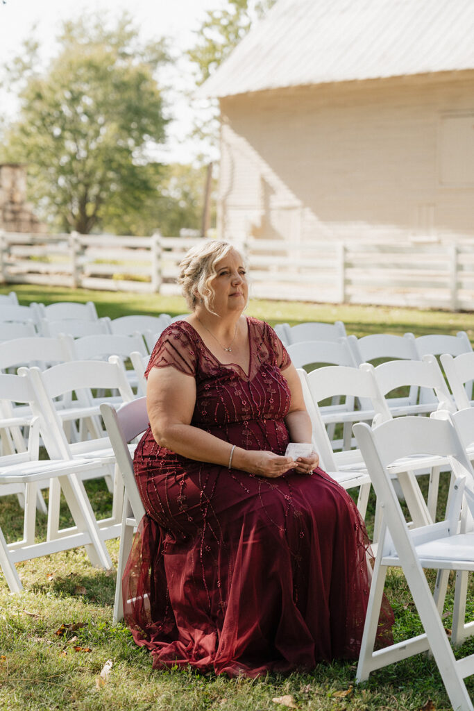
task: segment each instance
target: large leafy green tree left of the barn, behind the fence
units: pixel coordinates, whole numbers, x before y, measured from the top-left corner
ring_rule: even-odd
[[[2,157],[28,163],[31,197],[60,229],[87,234],[156,195],[162,167],[151,156],[166,119],[154,74],[166,47],[142,46],[126,14],[113,28],[104,16],[67,22],[58,41],[43,72],[33,52],[27,67],[20,58],[10,66],[12,80],[23,77],[21,110]]]

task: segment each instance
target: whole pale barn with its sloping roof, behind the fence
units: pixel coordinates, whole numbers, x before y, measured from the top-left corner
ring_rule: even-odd
[[[473,0],[278,0],[201,92],[222,237],[474,235]]]

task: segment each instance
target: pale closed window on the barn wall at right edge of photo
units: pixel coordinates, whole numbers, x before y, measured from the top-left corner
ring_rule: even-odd
[[[474,187],[474,113],[441,117],[438,176],[441,185]]]

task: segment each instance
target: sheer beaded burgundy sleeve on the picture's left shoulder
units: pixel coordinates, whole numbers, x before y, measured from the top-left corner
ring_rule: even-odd
[[[156,341],[150,355],[149,364],[145,370],[148,378],[151,368],[167,368],[171,365],[185,375],[195,375],[196,351],[195,343],[185,321],[177,321],[165,328]]]

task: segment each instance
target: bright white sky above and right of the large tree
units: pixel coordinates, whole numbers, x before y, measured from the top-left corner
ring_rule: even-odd
[[[5,4],[2,4],[5,2]],[[22,41],[36,26],[36,37],[43,47],[43,57],[54,54],[55,36],[64,20],[104,10],[111,18],[129,11],[140,28],[144,40],[170,38],[171,50],[179,52],[195,43],[194,32],[203,21],[205,11],[225,6],[225,0],[0,0],[0,68],[18,53]],[[205,114],[203,102],[190,102],[183,95],[192,90],[190,66],[182,60],[176,68],[167,69],[167,82],[174,88],[168,96],[171,115],[168,141],[157,159],[165,162],[188,163],[202,150],[195,141],[186,139],[193,124],[193,112]],[[0,91],[0,112],[14,115],[14,97]],[[217,156],[208,148],[210,158]]]

